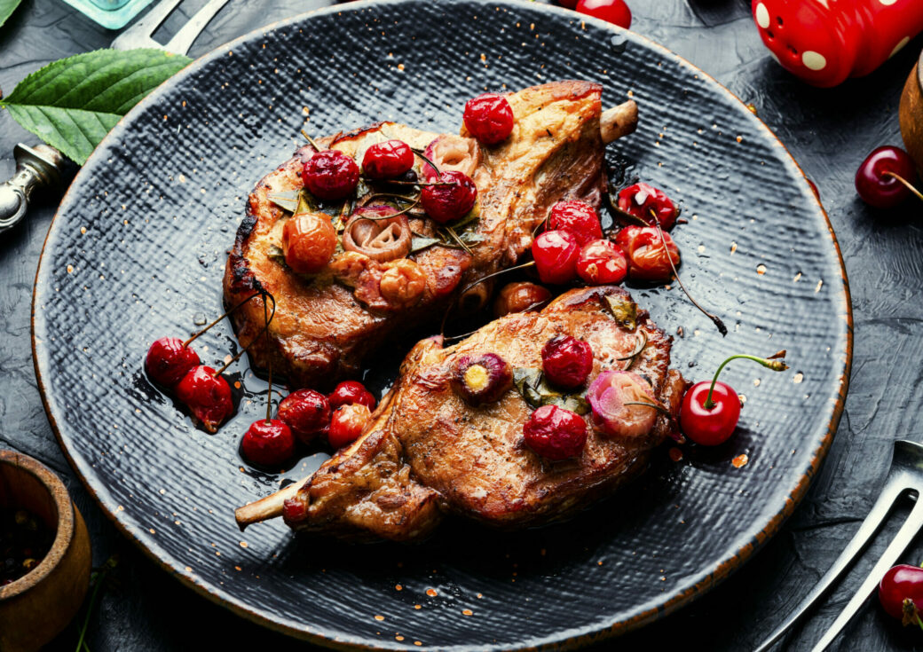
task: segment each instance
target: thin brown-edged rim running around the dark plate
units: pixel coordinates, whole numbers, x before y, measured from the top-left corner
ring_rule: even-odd
[[[138,102],[138,104],[129,111],[125,116],[123,116],[117,124],[110,130],[94,149],[93,153],[90,155],[90,161],[96,160],[98,157],[97,151],[102,150],[103,145],[109,144],[111,141],[116,141],[122,134],[126,131],[134,116],[141,113],[142,109],[147,107],[151,103],[156,103],[160,101],[162,96],[167,95],[172,91],[174,86],[178,81],[181,81],[188,75],[193,74],[202,66],[209,64],[211,61],[218,59],[226,55],[227,53],[233,51],[235,45],[247,42],[258,40],[260,38],[266,38],[270,32],[275,30],[282,30],[287,27],[293,26],[295,24],[300,24],[313,18],[315,16],[323,16],[327,14],[339,14],[344,12],[357,12],[363,11],[369,7],[375,6],[384,6],[384,5],[400,5],[404,2],[413,2],[414,0],[359,0],[358,2],[350,3],[349,6],[345,8],[343,6],[334,5],[320,7],[318,9],[313,9],[302,14],[298,14],[292,18],[284,18],[282,20],[270,23],[256,30],[247,32],[246,34],[235,38],[232,41],[228,41],[217,48],[206,53],[189,65],[186,65],[180,72],[178,72],[174,77],[171,77],[160,87],[154,89],[147,97]],[[530,11],[544,12],[550,14],[557,14],[559,16],[569,18],[573,20],[575,16],[579,16],[581,21],[593,24],[598,28],[609,30],[614,34],[623,33],[629,30],[623,30],[611,23],[607,23],[601,19],[593,18],[590,16],[577,15],[569,9],[563,7],[551,6],[551,5],[535,5],[529,0],[492,0],[491,2],[485,3],[486,6],[512,6],[518,7],[521,9],[528,9]],[[800,503],[801,499],[804,497],[805,493],[808,492],[809,486],[813,478],[817,475],[818,470],[821,467],[821,463],[827,455],[827,452],[830,450],[830,446],[833,444],[833,436],[836,433],[837,427],[839,425],[840,419],[843,415],[843,410],[845,408],[845,397],[849,387],[849,376],[852,368],[852,357],[853,357],[853,312],[852,312],[852,301],[849,291],[849,281],[846,277],[845,264],[843,261],[843,254],[840,250],[839,243],[837,242],[836,235],[833,232],[833,225],[830,221],[830,217],[827,215],[827,211],[824,209],[821,204],[820,199],[814,195],[810,190],[808,184],[808,178],[805,175],[804,171],[801,170],[801,167],[798,165],[797,160],[791,155],[785,145],[773,131],[765,124],[759,116],[755,113],[750,112],[747,109],[746,104],[740,100],[730,89],[727,89],[723,84],[718,82],[714,77],[701,70],[696,65],[691,64],[687,59],[679,56],[677,53],[665,48],[665,46],[660,45],[656,41],[638,34],[637,32],[630,32],[632,37],[637,41],[641,41],[645,46],[649,47],[653,51],[656,51],[666,58],[672,59],[680,65],[686,66],[694,74],[699,75],[702,79],[712,86],[713,89],[724,92],[729,98],[733,101],[740,104],[740,106],[747,110],[748,113],[752,116],[752,120],[756,124],[758,129],[761,129],[764,136],[767,136],[773,145],[782,149],[785,152],[785,163],[790,163],[794,166],[794,169],[801,174],[804,178],[805,183],[802,184],[801,188],[802,195],[809,196],[809,200],[812,201],[816,207],[820,208],[821,215],[826,223],[827,231],[830,235],[831,243],[833,244],[833,251],[836,254],[837,262],[840,267],[840,279],[842,280],[842,286],[836,288],[836,296],[839,298],[844,309],[844,313],[839,316],[845,318],[845,330],[838,334],[838,338],[843,338],[845,336],[845,350],[844,351],[835,351],[837,355],[840,353],[845,354],[843,360],[843,366],[838,378],[839,385],[838,391],[836,392],[836,397],[833,401],[833,411],[831,413],[830,421],[828,421],[826,426],[826,433],[823,434],[821,438],[820,445],[814,450],[810,460],[809,466],[804,470],[801,477],[799,478],[796,487],[789,492],[788,498],[785,501],[785,505],[781,511],[773,515],[769,522],[766,523],[763,528],[754,536],[754,539],[737,550],[734,554],[729,555],[727,558],[721,560],[717,563],[712,569],[711,572],[705,573],[705,575],[695,584],[690,586],[684,591],[681,591],[669,599],[666,599],[665,602],[660,605],[653,607],[647,611],[642,611],[641,613],[630,617],[624,621],[612,622],[607,627],[600,627],[594,624],[589,624],[582,627],[579,630],[569,630],[561,633],[560,637],[549,636],[545,639],[534,641],[531,645],[519,646],[512,649],[519,650],[532,650],[532,649],[574,649],[581,646],[591,645],[598,641],[604,640],[606,638],[611,638],[619,634],[625,634],[631,630],[638,629],[641,626],[654,622],[664,618],[666,615],[677,611],[680,607],[689,604],[695,599],[701,598],[705,593],[711,590],[713,587],[718,586],[723,582],[729,575],[731,575],[737,568],[739,568],[743,563],[747,562],[752,555],[761,549],[766,541],[771,539],[782,525],[785,523],[785,520],[792,515],[797,504]],[[62,434],[61,428],[58,426],[57,420],[54,417],[53,409],[51,406],[51,401],[48,395],[48,389],[44,383],[42,376],[42,363],[40,362],[39,350],[36,346],[36,337],[35,337],[35,319],[36,319],[36,304],[39,299],[39,294],[43,290],[40,285],[42,268],[45,263],[45,253],[47,245],[52,238],[55,224],[59,222],[58,216],[61,213],[61,207],[64,207],[71,196],[71,194],[77,194],[75,188],[78,187],[78,182],[83,183],[84,178],[88,177],[88,173],[84,173],[87,168],[87,164],[80,169],[77,176],[68,186],[66,194],[62,197],[61,203],[58,210],[55,212],[54,219],[49,226],[48,232],[45,235],[44,242],[42,243],[42,252],[39,258],[39,264],[35,272],[35,280],[33,283],[32,290],[32,302],[31,302],[31,312],[30,312],[30,335],[31,335],[31,346],[32,346],[32,362],[35,368],[36,380],[39,386],[39,391],[42,397],[42,406],[45,410],[46,415],[48,416],[48,421],[54,432],[54,436],[57,439],[58,445],[61,448],[62,452],[65,454],[68,463],[71,468],[74,469],[77,473],[79,480],[83,484],[87,492],[90,493],[93,500],[101,508],[102,512],[109,517],[109,519],[114,523],[115,527],[121,532],[127,539],[130,539],[135,543],[138,548],[143,551],[152,561],[158,563],[165,571],[170,575],[173,575],[176,579],[180,581],[186,587],[190,587],[195,590],[199,595],[204,596],[207,599],[210,599],[215,604],[221,605],[222,607],[233,611],[235,614],[243,616],[251,622],[256,622],[259,625],[267,627],[276,632],[282,634],[288,634],[296,638],[300,638],[311,643],[326,646],[334,649],[405,649],[403,646],[395,646],[390,644],[390,642],[382,641],[383,645],[368,645],[365,642],[365,639],[354,638],[352,640],[342,637],[342,634],[332,632],[329,630],[324,630],[323,628],[318,628],[314,631],[307,631],[303,625],[299,625],[295,622],[286,621],[283,619],[271,619],[263,615],[259,611],[255,611],[249,604],[242,602],[239,599],[234,598],[234,596],[226,594],[218,587],[212,586],[210,583],[205,583],[191,573],[191,572],[181,572],[172,565],[170,562],[166,561],[171,559],[169,555],[166,555],[163,551],[160,551],[156,545],[150,544],[147,540],[144,540],[144,532],[142,528],[136,524],[123,521],[119,518],[116,511],[110,509],[106,502],[102,499],[100,495],[105,491],[104,487],[94,487],[90,484],[88,478],[92,473],[90,468],[84,469],[75,456],[71,455],[70,450],[65,445],[66,438]],[[42,359],[43,360],[43,359]],[[86,471],[86,472],[85,472]],[[457,646],[456,649],[497,649],[497,646]]]

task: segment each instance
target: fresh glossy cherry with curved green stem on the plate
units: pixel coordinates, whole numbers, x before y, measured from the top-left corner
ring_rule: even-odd
[[[784,372],[788,369],[784,358],[784,350],[769,358],[732,355],[718,366],[711,383],[704,380],[686,391],[679,410],[679,429],[696,444],[713,446],[727,441],[740,419],[740,397],[733,387],[718,382],[725,365],[732,360],[752,360],[773,372]]]

